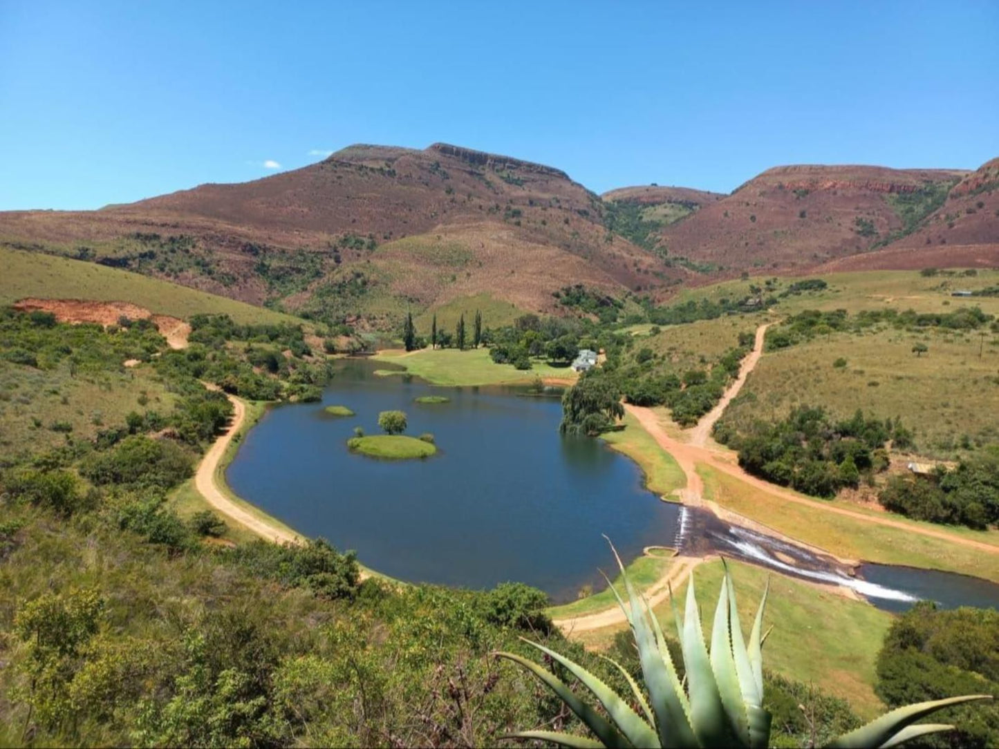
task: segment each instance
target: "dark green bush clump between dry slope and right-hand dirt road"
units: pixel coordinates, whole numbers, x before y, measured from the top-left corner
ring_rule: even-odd
[[[832,496],[844,486],[888,466],[885,445],[911,446],[912,435],[897,419],[878,419],[857,410],[834,421],[822,407],[799,406],[776,423],[757,421],[748,433],[734,433],[724,422],[714,436],[739,452],[739,465],[782,486],[815,496]]]

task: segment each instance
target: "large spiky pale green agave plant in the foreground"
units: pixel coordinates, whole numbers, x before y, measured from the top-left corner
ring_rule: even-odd
[[[728,565],[725,564],[718,605],[714,610],[714,622],[711,627],[710,650],[704,642],[701,631],[692,575],[687,586],[685,611],[682,617],[670,594],[686,670],[684,684],[677,677],[659,622],[644,598],[635,594],[617,551],[612,544],[610,548],[620,567],[630,608],[624,605],[609,579],[607,584],[610,585],[617,603],[631,625],[648,699],[646,700],[642,690],[627,671],[613,660],[607,659],[617,667],[630,687],[631,694],[627,698],[618,695],[577,663],[543,645],[524,640],[564,666],[592,693],[603,707],[603,713],[582,700],[564,682],[539,664],[513,653],[498,653],[501,657],[528,669],[544,682],[595,736],[593,739],[557,731],[521,731],[505,738],[537,739],[578,749],[590,747],[763,749],[769,746],[770,714],[763,707],[762,660],[762,647],[768,634],[762,631],[767,591],[764,591],[759,602],[747,644],[743,639],[735,608],[735,587],[728,573]],[[891,747],[917,736],[952,730],[953,726],[950,725],[915,724],[915,722],[941,708],[983,699],[991,697],[969,695],[900,707],[862,728],[838,737],[828,746],[842,749]],[[632,704],[637,706],[641,715],[632,709]]]

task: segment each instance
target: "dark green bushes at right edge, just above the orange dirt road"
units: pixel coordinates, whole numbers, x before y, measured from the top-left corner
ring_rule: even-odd
[[[892,476],[878,495],[894,512],[919,520],[985,528],[999,523],[999,447],[979,450],[929,477]]]

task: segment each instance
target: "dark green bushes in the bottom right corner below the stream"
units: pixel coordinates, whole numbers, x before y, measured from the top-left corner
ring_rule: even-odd
[[[959,608],[941,611],[917,603],[891,626],[878,655],[875,687],[889,707],[952,694],[999,698],[999,611]],[[957,731],[923,739],[923,747],[999,745],[996,702],[950,708],[939,714]]]

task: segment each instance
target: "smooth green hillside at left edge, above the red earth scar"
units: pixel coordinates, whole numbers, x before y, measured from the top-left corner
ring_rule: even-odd
[[[130,302],[175,318],[229,315],[241,324],[301,323],[298,318],[96,263],[0,248],[0,305],[26,297]]]

